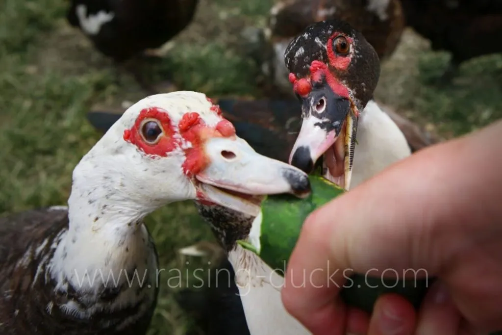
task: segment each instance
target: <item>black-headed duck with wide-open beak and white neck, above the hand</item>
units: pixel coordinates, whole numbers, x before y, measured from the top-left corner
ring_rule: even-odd
[[[310,172],[322,157],[324,176],[349,189],[411,154],[401,130],[373,100],[379,57],[351,25],[310,25],[284,59],[302,106],[292,165]]]

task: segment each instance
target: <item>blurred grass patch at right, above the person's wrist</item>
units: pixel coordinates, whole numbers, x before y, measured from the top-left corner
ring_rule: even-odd
[[[428,42],[405,32],[394,55],[382,66],[375,95],[441,137],[460,136],[502,118],[502,54],[463,63],[448,85],[433,83],[449,55],[431,52]]]

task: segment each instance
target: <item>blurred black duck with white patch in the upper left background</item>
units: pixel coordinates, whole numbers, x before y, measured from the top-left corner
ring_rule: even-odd
[[[141,65],[192,21],[199,0],[70,0],[67,20],[121,69],[155,92]]]

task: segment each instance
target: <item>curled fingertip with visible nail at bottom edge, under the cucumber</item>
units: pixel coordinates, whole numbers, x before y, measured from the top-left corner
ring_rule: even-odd
[[[413,335],[415,324],[416,311],[413,305],[402,296],[386,294],[376,300],[367,334]]]

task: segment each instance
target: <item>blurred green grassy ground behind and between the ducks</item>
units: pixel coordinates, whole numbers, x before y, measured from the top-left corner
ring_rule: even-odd
[[[165,47],[152,80],[167,73],[179,89],[210,96],[258,96],[256,64],[243,56],[240,32],[263,27],[272,0],[201,0],[195,21]],[[120,105],[144,96],[128,76],[117,76],[64,16],[60,0],[0,2],[0,213],[65,204],[73,167],[99,139],[87,123],[95,104]],[[442,139],[461,136],[502,117],[502,55],[462,65],[449,85],[430,84],[448,54],[431,52],[411,30],[383,64],[375,96]],[[212,240],[193,205],[177,203],[148,217],[161,267],[184,269],[176,252]],[[190,262],[192,262],[190,260]],[[167,271],[166,271],[167,272]],[[164,273],[163,273],[164,275]],[[173,299],[179,287],[165,274],[150,334],[184,334],[191,320]],[[169,287],[171,286],[171,287]]]

